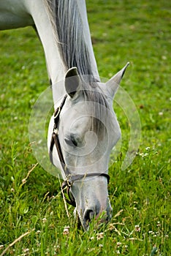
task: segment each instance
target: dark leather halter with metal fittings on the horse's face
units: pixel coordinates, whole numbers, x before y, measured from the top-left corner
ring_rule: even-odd
[[[85,174],[76,174],[76,175],[72,175],[72,173],[70,173],[70,171],[65,163],[64,156],[61,151],[61,144],[58,139],[59,117],[60,117],[61,110],[64,107],[66,97],[67,97],[67,95],[64,96],[64,99],[62,100],[61,105],[58,108],[56,108],[55,113],[54,113],[54,126],[53,126],[52,138],[51,138],[51,142],[50,142],[49,156],[50,156],[50,162],[52,162],[52,164],[53,164],[53,146],[55,145],[57,152],[58,152],[58,158],[61,162],[62,169],[64,170],[64,173],[66,176],[64,182],[62,183],[62,190],[64,192],[64,189],[66,189],[66,192],[68,195],[68,197],[65,196],[65,200],[70,205],[76,206],[75,198],[72,196],[72,194],[70,192],[70,188],[72,187],[72,184],[74,181],[79,181],[86,177],[104,176],[105,178],[107,178],[107,183],[109,183],[110,176],[107,173],[85,173]]]

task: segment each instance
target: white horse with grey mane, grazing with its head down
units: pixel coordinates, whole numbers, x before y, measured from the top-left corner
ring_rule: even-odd
[[[34,26],[45,50],[54,116],[47,146],[85,229],[111,218],[110,151],[121,136],[113,97],[128,64],[107,83],[96,67],[84,0],[0,0],[0,29]],[[61,82],[60,82],[61,81]]]

